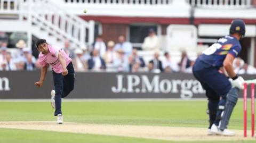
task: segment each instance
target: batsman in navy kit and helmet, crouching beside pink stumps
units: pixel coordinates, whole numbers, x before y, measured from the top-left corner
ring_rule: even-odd
[[[235,132],[227,128],[237,103],[239,89],[244,88],[244,79],[234,72],[233,61],[241,51],[239,40],[244,35],[244,21],[233,20],[229,35],[218,39],[217,43],[207,48],[193,67],[193,74],[206,90],[208,98],[209,135],[235,135]]]

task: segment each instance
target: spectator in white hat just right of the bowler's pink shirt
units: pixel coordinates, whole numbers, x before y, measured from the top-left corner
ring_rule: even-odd
[[[74,69],[76,71],[85,71],[87,69],[86,61],[83,60],[83,50],[80,48],[75,49],[74,53],[76,54],[75,59],[73,60]]]

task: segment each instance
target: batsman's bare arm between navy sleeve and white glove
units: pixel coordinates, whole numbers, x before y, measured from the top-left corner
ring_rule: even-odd
[[[232,78],[233,80],[237,78],[237,75],[233,69],[233,61],[234,61],[235,57],[231,54],[227,54],[224,62],[223,62],[223,67],[225,68],[225,70],[227,71],[228,75],[230,78]]]

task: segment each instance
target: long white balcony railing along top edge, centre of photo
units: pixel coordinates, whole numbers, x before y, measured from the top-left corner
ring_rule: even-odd
[[[166,5],[173,0],[63,0],[72,4],[127,4],[127,5]]]

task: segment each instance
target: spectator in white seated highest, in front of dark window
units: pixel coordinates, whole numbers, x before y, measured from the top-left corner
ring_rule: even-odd
[[[142,49],[144,51],[159,51],[160,41],[154,29],[149,29],[148,37],[144,39]]]

